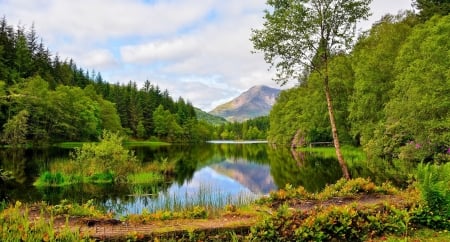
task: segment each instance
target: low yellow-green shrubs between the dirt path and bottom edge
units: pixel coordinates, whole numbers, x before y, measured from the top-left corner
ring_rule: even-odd
[[[382,234],[404,234],[409,215],[393,205],[315,207],[309,211],[278,208],[251,228],[250,241],[366,241]]]

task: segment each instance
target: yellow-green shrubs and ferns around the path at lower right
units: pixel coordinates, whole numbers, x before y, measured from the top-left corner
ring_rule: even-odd
[[[340,180],[321,193],[287,186],[261,199],[261,204],[282,204],[275,214],[251,228],[249,241],[366,241],[423,229],[450,229],[450,164],[420,165],[416,182],[404,191],[389,183],[376,186],[368,179]],[[395,201],[364,205],[289,207],[292,200],[327,200],[364,194],[395,194]]]

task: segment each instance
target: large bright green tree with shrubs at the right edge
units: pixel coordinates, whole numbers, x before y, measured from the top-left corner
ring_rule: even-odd
[[[367,145],[370,155],[415,162],[448,160],[449,18],[435,17],[417,25],[401,47],[386,120]]]

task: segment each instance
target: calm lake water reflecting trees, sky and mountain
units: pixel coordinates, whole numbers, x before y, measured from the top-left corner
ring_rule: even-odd
[[[311,153],[292,153],[266,143],[207,143],[195,146],[131,148],[147,162],[167,160],[175,164],[173,179],[159,186],[81,185],[38,189],[32,183],[57,158],[67,157],[69,149],[0,150],[0,168],[11,171],[15,180],[1,184],[0,200],[59,203],[62,199],[96,204],[120,214],[140,213],[192,205],[199,200],[221,206],[251,200],[286,184],[304,186],[311,192],[341,176],[337,161]],[[376,183],[387,180],[405,184],[413,165],[380,162],[369,164],[347,158],[353,177],[370,177]],[[206,201],[207,200],[207,201]],[[206,202],[205,202],[206,201]]]

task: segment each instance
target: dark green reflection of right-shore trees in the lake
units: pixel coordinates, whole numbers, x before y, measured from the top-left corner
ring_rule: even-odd
[[[342,176],[334,157],[295,149],[289,151],[285,147],[272,147],[268,149],[268,154],[271,173],[278,187],[292,184],[316,192]],[[413,173],[415,168],[415,164],[399,160],[378,160],[369,163],[351,154],[347,154],[346,158],[352,177],[370,178],[376,184],[391,181],[396,186],[405,186],[408,175]]]

